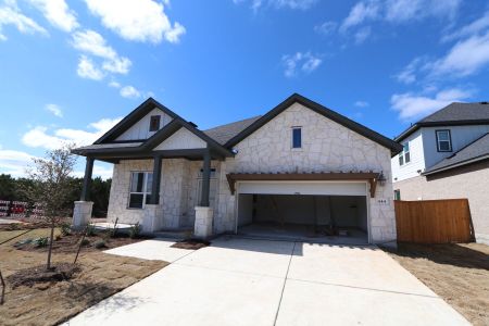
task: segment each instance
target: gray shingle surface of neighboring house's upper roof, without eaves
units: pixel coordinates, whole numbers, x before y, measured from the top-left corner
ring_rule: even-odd
[[[489,120],[489,104],[454,102],[419,121],[419,123]]]

